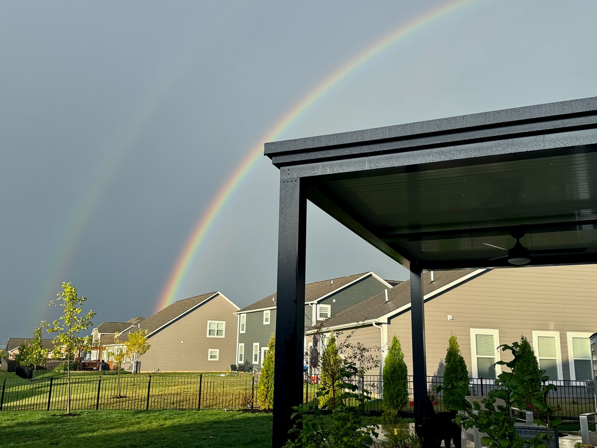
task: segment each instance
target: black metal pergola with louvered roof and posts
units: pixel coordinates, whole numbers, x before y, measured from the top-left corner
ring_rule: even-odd
[[[423,269],[597,262],[597,97],[266,143],[265,154],[281,178],[274,447],[302,401],[307,200],[410,269],[415,403],[427,392]]]

